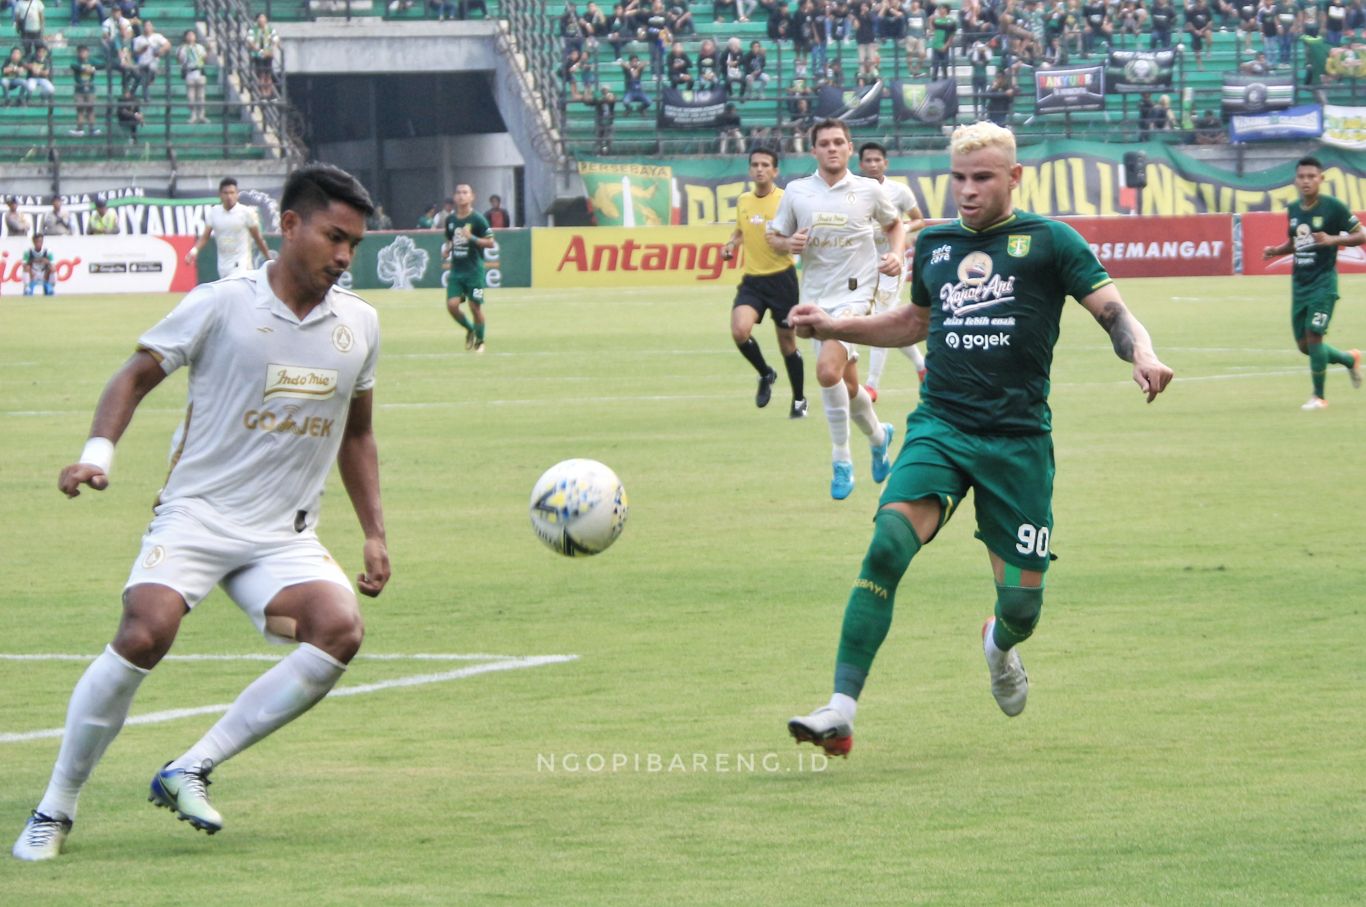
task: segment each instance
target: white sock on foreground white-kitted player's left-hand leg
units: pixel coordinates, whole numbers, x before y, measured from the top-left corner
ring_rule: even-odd
[[[67,705],[67,727],[61,735],[52,780],[38,803],[44,815],[76,817],[81,785],[90,777],[105,749],[119,736],[128,706],[148,671],[105,646],[76,680]]]

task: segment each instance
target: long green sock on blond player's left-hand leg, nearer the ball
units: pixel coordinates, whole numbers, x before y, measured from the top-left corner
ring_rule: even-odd
[[[873,657],[892,626],[896,585],[919,549],[921,540],[911,529],[911,520],[893,510],[877,512],[873,541],[844,606],[840,647],[835,656],[836,693],[856,699],[863,691]]]

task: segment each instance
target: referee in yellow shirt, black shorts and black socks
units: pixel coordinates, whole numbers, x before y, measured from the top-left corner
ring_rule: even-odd
[[[787,313],[798,302],[796,266],[792,257],[773,251],[765,239],[768,223],[777,213],[783,190],[775,184],[777,179],[777,152],[758,148],[750,152],[750,182],[754,190],[740,195],[735,204],[735,232],[723,249],[723,257],[729,261],[735,250],[744,245],[744,276],[735,291],[731,306],[731,337],[754,370],[759,373],[759,389],[754,395],[754,406],[768,406],[773,396],[773,382],[777,372],[764,359],[759,344],[750,336],[754,325],[764,321],[764,313],[773,313],[773,331],[777,333],[777,348],[783,352],[787,380],[792,385],[792,408],[788,418],[806,418],[806,396],[802,392],[802,354],[796,351],[796,335],[787,324]]]

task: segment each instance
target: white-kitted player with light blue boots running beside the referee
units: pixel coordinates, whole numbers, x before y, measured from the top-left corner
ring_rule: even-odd
[[[803,303],[814,303],[836,318],[866,316],[878,273],[893,276],[906,266],[904,227],[881,186],[850,173],[854,145],[848,126],[821,120],[811,127],[811,150],[817,169],[787,184],[768,225],[769,245],[775,251],[802,255]],[[888,251],[881,258],[873,243],[878,231],[888,236]],[[850,417],[873,448],[874,482],[882,482],[892,469],[887,448],[895,429],[891,422],[877,421],[873,397],[858,381],[854,344],[821,341],[816,378],[833,445],[831,497],[844,500],[854,490]]]

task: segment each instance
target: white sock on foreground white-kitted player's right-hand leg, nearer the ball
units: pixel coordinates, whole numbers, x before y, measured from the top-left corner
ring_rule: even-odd
[[[219,723],[168,768],[223,765],[234,755],[311,709],[346,672],[317,646],[301,643],[238,697]]]

